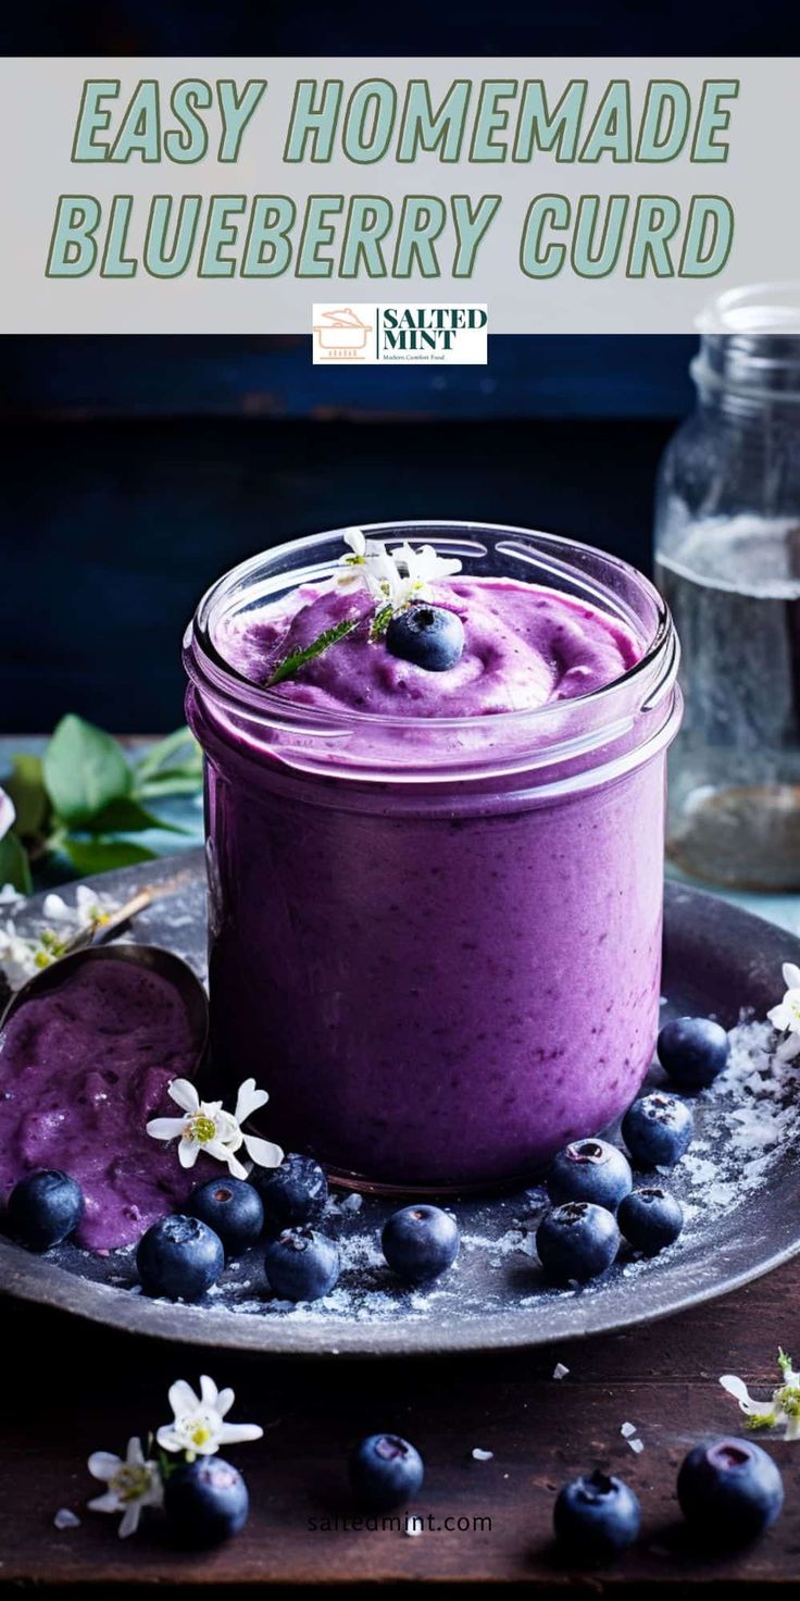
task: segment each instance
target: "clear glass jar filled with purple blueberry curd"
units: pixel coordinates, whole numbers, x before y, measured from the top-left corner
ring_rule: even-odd
[[[186,634],[214,1060],[269,1090],[286,1150],[344,1182],[442,1193],[528,1175],[595,1134],[651,1061],[677,642],[654,588],[584,544],[478,524],[365,532],[586,599],[642,648],[614,684],[538,711],[282,700],[221,639],[330,578],[341,532],[235,568]]]

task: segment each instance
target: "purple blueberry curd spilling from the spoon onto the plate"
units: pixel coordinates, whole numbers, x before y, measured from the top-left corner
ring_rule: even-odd
[[[85,1196],[78,1244],[130,1246],[213,1177],[184,1172],[149,1117],[176,1113],[170,1081],[194,1066],[179,994],[131,962],[86,962],[22,1004],[0,1033],[0,1191],[59,1167]]]

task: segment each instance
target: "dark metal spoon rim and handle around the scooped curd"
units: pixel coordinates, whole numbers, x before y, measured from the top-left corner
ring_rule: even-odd
[[[173,989],[178,991],[186,1017],[189,1020],[189,1029],[192,1036],[192,1074],[200,1068],[206,1045],[208,1045],[208,996],[200,983],[197,973],[192,972],[189,962],[182,957],[174,956],[173,951],[165,951],[160,945],[104,945],[102,941],[109,935],[115,933],[125,922],[130,922],[136,913],[144,911],[152,901],[152,892],[142,890],[118,911],[112,913],[107,922],[99,929],[82,929],[80,933],[69,941],[64,956],[59,956],[48,967],[43,967],[38,973],[34,973],[21,989],[16,989],[8,1001],[3,1013],[0,1015],[0,1029],[5,1028],[8,1020],[19,1012],[32,999],[38,999],[43,994],[50,994],[58,989],[64,978],[70,973],[78,972],[85,962],[134,962],[139,967],[146,967],[150,973],[158,973],[165,978]]]

